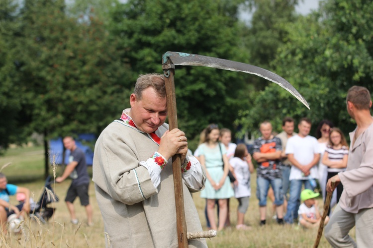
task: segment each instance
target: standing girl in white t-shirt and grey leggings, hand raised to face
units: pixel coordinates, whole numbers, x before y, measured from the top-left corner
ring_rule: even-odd
[[[254,166],[245,144],[237,145],[234,157],[229,163],[233,167],[236,176],[236,182],[234,183],[234,196],[238,200],[236,229],[250,230],[250,227],[244,224],[244,217],[249,207],[251,195],[250,174],[254,172]]]

